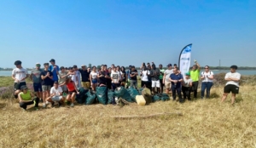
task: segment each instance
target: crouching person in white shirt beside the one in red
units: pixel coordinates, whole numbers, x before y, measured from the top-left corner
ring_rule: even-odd
[[[51,103],[51,107],[54,107],[55,101],[58,102],[59,107],[64,103],[64,97],[62,97],[62,88],[59,83],[55,81],[54,86],[50,88],[50,96],[46,99]]]

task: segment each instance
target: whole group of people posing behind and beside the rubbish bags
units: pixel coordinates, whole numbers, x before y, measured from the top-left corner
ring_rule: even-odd
[[[49,65],[50,63],[50,65]],[[193,92],[194,99],[197,98],[197,88],[201,80],[201,99],[205,98],[205,90],[207,89],[206,98],[210,98],[210,90],[212,88],[212,80],[214,74],[210,71],[208,65],[205,66],[205,71],[201,72],[201,66],[195,62],[191,70],[183,74],[178,70],[177,65],[168,64],[167,69],[163,65],[157,68],[154,62],[147,65],[143,63],[140,67],[140,72],[137,71],[134,65],[129,65],[128,71],[125,71],[124,66],[102,65],[100,69],[96,66],[86,67],[77,65],[72,67],[59,67],[55,64],[55,60],[49,60],[49,63],[44,63],[44,69],[41,69],[39,63],[36,68],[28,74],[27,70],[21,66],[21,61],[15,61],[16,68],[12,72],[12,78],[15,80],[15,98],[19,98],[20,107],[26,110],[27,105],[35,105],[38,110],[39,101],[43,101],[43,107],[46,105],[63,105],[64,100],[70,106],[74,106],[75,96],[79,94],[79,88],[87,88],[96,91],[96,87],[107,87],[115,89],[119,86],[125,88],[137,88],[137,77],[141,78],[141,87],[149,88],[153,94],[164,93],[169,94],[172,90],[172,99],[183,103],[185,99],[191,100],[190,94]],[[232,92],[233,104],[236,94],[239,92],[239,80],[241,75],[236,72],[237,66],[232,65],[230,72],[226,74],[225,80],[228,81],[224,87],[224,95],[221,101],[226,99],[227,94]],[[36,96],[27,89],[26,78],[32,79],[33,88]],[[164,89],[165,88],[165,89]],[[63,97],[63,93],[67,93],[67,97]],[[183,96],[182,96],[183,93]]]

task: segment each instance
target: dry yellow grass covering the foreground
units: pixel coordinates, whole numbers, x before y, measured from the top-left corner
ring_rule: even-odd
[[[156,102],[120,108],[75,105],[21,111],[15,100],[0,100],[1,147],[256,147],[255,86],[242,86],[236,105],[223,88],[211,100]],[[220,96],[219,96],[220,95]],[[40,104],[42,106],[42,104]],[[120,115],[183,112],[183,116],[113,119]]]

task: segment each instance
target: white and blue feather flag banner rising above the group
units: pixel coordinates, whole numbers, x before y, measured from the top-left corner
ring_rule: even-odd
[[[191,48],[192,43],[185,46],[179,55],[178,67],[179,71],[185,76],[185,73],[189,72],[190,60],[191,60]]]

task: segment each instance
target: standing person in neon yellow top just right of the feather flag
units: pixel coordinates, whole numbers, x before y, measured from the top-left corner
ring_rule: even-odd
[[[192,70],[189,72],[192,79],[192,91],[194,92],[194,98],[197,97],[198,81],[200,77],[200,65],[195,61]]]

